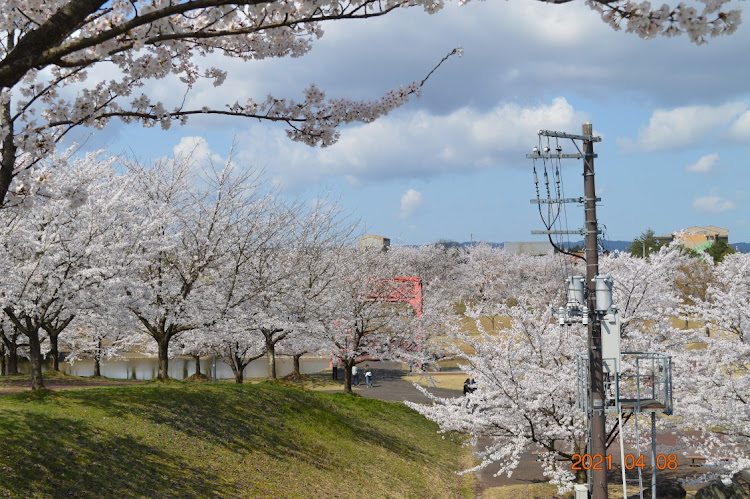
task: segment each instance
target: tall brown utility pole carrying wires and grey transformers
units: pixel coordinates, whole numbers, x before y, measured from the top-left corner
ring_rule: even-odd
[[[596,310],[596,290],[594,277],[599,275],[599,251],[596,221],[596,188],[594,184],[594,142],[591,123],[584,123],[582,135],[589,139],[583,140],[583,193],[585,197],[584,210],[586,215],[586,306],[589,313],[588,343],[589,343],[589,379],[591,380],[591,449],[592,456],[604,458],[607,453],[606,415],[604,413],[604,369],[602,366],[602,324],[594,311]],[[593,459],[593,458],[592,458]],[[591,497],[593,499],[607,498],[607,470],[604,466],[591,470]]]

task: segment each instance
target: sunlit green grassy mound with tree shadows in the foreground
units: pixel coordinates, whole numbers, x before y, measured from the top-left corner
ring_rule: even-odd
[[[3,497],[472,497],[469,450],[403,404],[150,383],[0,397]]]

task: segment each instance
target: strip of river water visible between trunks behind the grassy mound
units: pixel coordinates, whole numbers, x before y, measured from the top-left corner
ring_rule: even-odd
[[[311,374],[320,372],[328,367],[328,359],[306,358],[300,359],[300,371],[302,374]],[[201,372],[211,375],[213,359],[207,357],[201,359]],[[292,373],[292,359],[288,357],[276,358],[276,375],[278,377],[286,376]],[[22,373],[29,372],[28,362],[22,362],[19,359],[18,370]],[[43,371],[49,370],[48,364],[45,364]],[[94,361],[79,360],[74,363],[60,362],[60,370],[76,376],[93,376]],[[159,363],[153,358],[136,358],[123,360],[102,361],[102,376],[115,379],[154,379],[159,372]],[[169,359],[169,376],[175,379],[184,379],[195,374],[195,360],[193,359]],[[268,362],[265,357],[254,360],[245,368],[245,378],[263,378],[268,376]],[[216,377],[234,378],[232,368],[229,365],[216,359]]]

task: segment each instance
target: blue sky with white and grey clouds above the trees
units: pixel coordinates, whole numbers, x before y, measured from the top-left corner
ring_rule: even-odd
[[[330,192],[364,231],[394,243],[533,241],[541,237],[530,231],[543,227],[525,155],[536,131],[580,133],[590,121],[603,138],[596,182],[608,239],[717,225],[730,242],[750,242],[746,22],[702,46],[616,32],[579,1],[470,2],[337,22],[298,59],[205,61],[228,70],[227,82],[198,85],[187,101],[299,98],[310,83],[331,97],[375,98],[420,80],[454,47],[464,56],[447,61],[421,98],[343,129],[325,149],[292,143],[281,126],[216,117],[168,131],[109,125],[86,148],[148,161],[198,144],[221,159],[234,142],[237,160],[265,169],[284,196]],[[175,81],[147,88],[167,104],[182,100]],[[563,164],[566,195],[581,195],[581,171],[580,161]],[[581,208],[567,213],[570,227],[582,225]]]

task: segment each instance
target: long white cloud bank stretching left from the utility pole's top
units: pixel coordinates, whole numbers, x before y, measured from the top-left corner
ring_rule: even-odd
[[[540,123],[575,130],[583,121],[583,113],[558,97],[549,104],[501,104],[485,112],[469,107],[444,115],[401,110],[342,130],[339,142],[324,149],[291,143],[281,130],[268,126],[253,127],[238,142],[246,162],[263,158],[279,185],[303,186],[327,176],[361,185],[373,179],[528,166],[524,155],[536,145]]]

